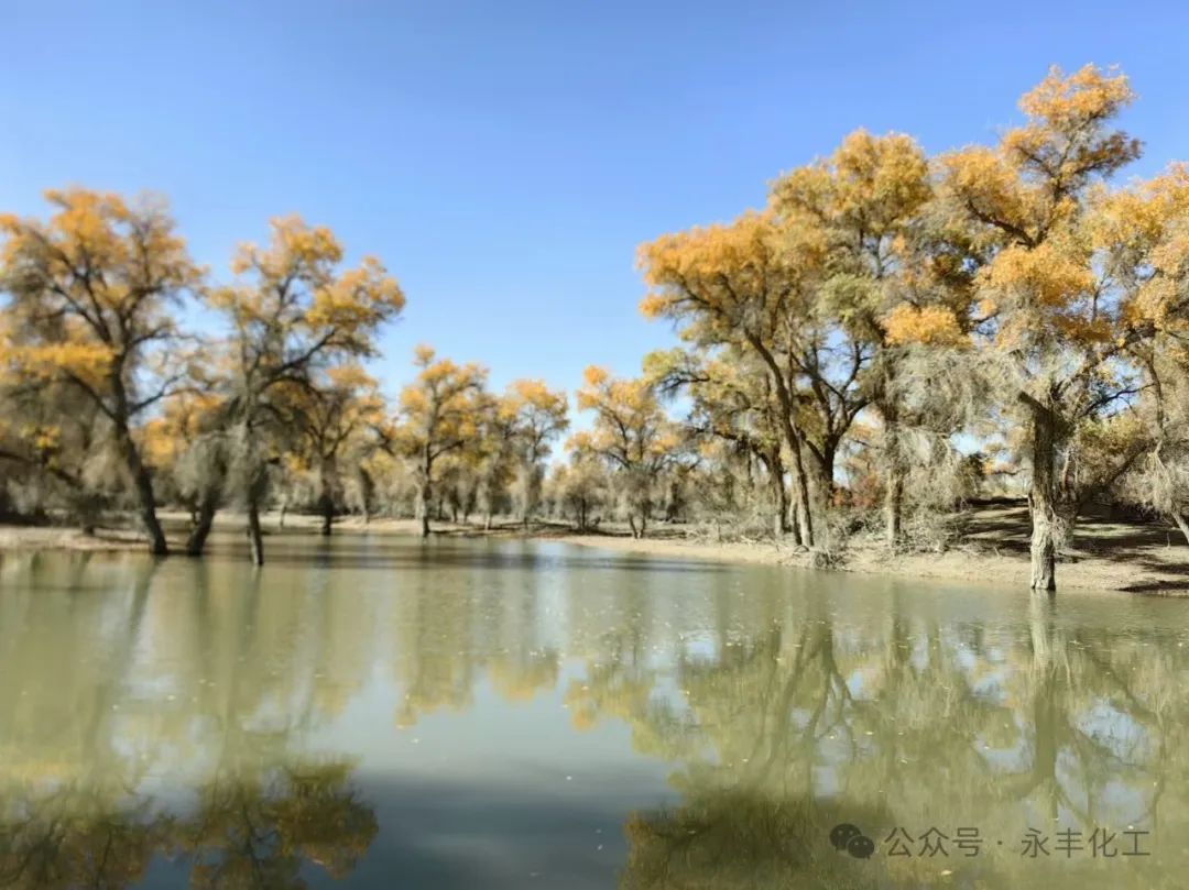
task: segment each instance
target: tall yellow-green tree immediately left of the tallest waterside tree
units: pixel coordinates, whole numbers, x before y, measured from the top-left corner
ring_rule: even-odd
[[[813,304],[826,337],[806,337],[800,323],[792,337],[805,343],[795,351],[798,366],[825,433],[811,433],[807,447],[814,456],[830,456],[823,473],[832,473],[832,455],[850,431],[854,409],[874,410],[885,539],[893,549],[901,537],[905,482],[917,452],[912,444],[923,433],[944,438],[960,423],[956,411],[932,410],[936,400],[912,399],[908,378],[943,377],[935,367],[919,367],[920,359],[969,342],[970,272],[961,255],[939,250],[952,233],[932,212],[932,198],[929,160],[913,139],[860,130],[828,158],[776,179],[769,200],[793,250],[810,236],[825,251]],[[927,343],[927,352],[913,348],[905,327],[913,341]],[[838,410],[831,410],[835,405]]]

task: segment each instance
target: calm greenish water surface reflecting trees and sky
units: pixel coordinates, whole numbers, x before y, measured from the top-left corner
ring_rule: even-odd
[[[1189,602],[269,543],[0,557],[0,886],[1189,880]]]

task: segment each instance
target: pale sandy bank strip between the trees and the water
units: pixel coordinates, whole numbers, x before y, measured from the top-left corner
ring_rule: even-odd
[[[181,547],[187,517],[163,513],[171,543]],[[266,515],[268,532],[276,534],[279,516]],[[287,517],[287,531],[308,531],[315,517]],[[219,518],[216,529],[243,528],[234,515]],[[345,517],[335,523],[340,535],[414,535],[410,519]],[[615,525],[598,534],[577,534],[561,524],[533,524],[528,530],[516,523],[501,523],[491,530],[480,525],[435,523],[433,534],[441,537],[516,537],[559,541],[597,547],[618,553],[644,554],[681,560],[811,567],[811,555],[773,541],[713,541],[691,536],[681,525],[658,525],[649,537],[637,541]],[[889,555],[876,538],[853,538],[835,569],[863,574],[893,575],[967,582],[1026,586],[1030,525],[1023,506],[990,506],[971,510],[962,517],[962,531],[955,545],[944,553]],[[100,529],[88,536],[73,529],[52,526],[0,525],[0,551],[30,549],[134,550],[144,545],[137,532],[127,529]],[[1122,522],[1088,517],[1074,538],[1074,545],[1058,566],[1062,589],[1122,591],[1127,593],[1189,597],[1189,545],[1179,532],[1157,523]]]

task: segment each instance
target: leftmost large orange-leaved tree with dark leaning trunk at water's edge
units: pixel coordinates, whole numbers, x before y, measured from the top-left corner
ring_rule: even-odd
[[[0,216],[0,292],[10,373],[68,387],[102,415],[134,492],[149,550],[169,544],[138,428],[185,380],[172,311],[201,286],[164,202],[86,189],[48,191],[46,220]]]

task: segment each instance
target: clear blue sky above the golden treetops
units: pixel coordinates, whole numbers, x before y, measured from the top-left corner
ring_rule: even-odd
[[[990,141],[1048,67],[1119,64],[1133,172],[1189,158],[1184,2],[0,0],[0,210],[46,187],[162,191],[196,259],[297,212],[502,386],[635,373],[638,242],[763,202],[850,130]]]

